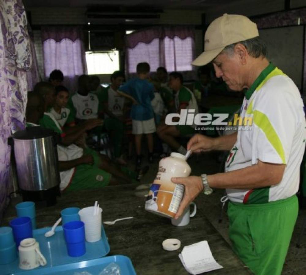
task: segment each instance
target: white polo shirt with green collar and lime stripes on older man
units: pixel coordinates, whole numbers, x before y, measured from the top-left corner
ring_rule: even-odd
[[[247,90],[241,117],[251,118],[252,125],[238,130],[225,171],[245,168],[258,160],[286,167],[281,182],[276,185],[251,190],[227,189],[231,201],[262,204],[297,193],[306,136],[303,107],[297,86],[273,64]]]

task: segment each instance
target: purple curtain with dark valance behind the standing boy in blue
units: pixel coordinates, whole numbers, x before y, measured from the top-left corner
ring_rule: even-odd
[[[154,72],[160,66],[167,71],[180,71],[184,79],[194,79],[194,28],[158,26],[133,32],[126,37],[126,73],[136,73],[139,62],[148,62]]]

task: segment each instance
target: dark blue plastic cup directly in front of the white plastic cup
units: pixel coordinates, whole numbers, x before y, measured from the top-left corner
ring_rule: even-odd
[[[85,254],[85,226],[84,222],[72,221],[63,225],[68,255],[79,257]]]

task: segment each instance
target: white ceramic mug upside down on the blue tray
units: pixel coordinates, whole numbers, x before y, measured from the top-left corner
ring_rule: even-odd
[[[34,238],[27,238],[20,242],[19,268],[30,270],[47,264],[46,258],[41,254],[39,244]]]

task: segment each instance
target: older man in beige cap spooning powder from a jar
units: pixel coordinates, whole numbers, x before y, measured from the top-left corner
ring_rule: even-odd
[[[240,115],[252,124],[228,136],[190,139],[187,149],[193,152],[230,153],[225,173],[172,178],[185,185],[176,218],[202,190],[210,194],[212,188],[226,188],[234,251],[255,274],[281,274],[298,213],[303,102],[293,81],[267,60],[257,26],[247,17],[217,18],[204,42],[205,51],[193,65],[212,61],[216,76],[231,90],[247,89]]]

